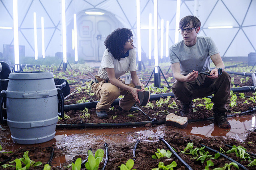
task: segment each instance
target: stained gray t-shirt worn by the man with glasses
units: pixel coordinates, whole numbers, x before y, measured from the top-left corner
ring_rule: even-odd
[[[180,72],[186,75],[193,70],[210,71],[210,56],[219,51],[210,37],[196,37],[196,44],[188,47],[184,40],[172,45],[169,49],[170,62],[180,63]]]

